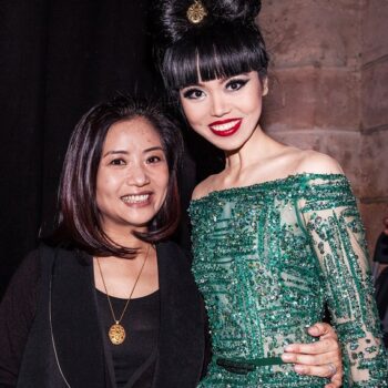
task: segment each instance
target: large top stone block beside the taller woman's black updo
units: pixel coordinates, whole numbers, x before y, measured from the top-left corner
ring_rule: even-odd
[[[258,22],[277,68],[360,64],[360,1],[266,0]]]

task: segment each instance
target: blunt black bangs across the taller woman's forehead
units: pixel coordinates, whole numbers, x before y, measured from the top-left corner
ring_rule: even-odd
[[[268,57],[256,28],[223,23],[201,27],[170,47],[162,73],[169,90],[249,71],[266,75]]]

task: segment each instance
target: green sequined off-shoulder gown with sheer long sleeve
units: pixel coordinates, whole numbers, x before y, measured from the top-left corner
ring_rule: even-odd
[[[213,192],[192,201],[190,215],[213,347],[198,387],[324,387],[326,379],[289,365],[241,366],[312,341],[306,327],[323,319],[326,304],[343,346],[344,387],[388,387],[364,229],[344,175]]]

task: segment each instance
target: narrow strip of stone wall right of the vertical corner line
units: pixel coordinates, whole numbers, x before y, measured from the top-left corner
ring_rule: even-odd
[[[364,1],[361,202],[370,248],[388,215],[388,1]]]

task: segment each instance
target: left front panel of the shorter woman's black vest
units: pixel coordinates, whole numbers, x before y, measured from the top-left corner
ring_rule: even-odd
[[[51,288],[52,337],[71,387],[108,387],[91,257],[57,249]],[[106,380],[106,382],[105,382]]]

